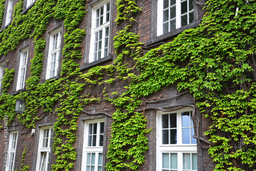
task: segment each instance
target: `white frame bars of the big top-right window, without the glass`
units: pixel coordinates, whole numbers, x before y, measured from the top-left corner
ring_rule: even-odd
[[[166,23],[166,22],[163,22],[163,11],[164,11],[164,9],[163,9],[164,8],[163,7],[164,6],[163,1],[164,0],[159,0],[158,1],[158,9],[157,9],[158,10],[158,14],[157,14],[157,36],[160,36],[160,35],[164,34],[163,33],[163,23]],[[171,1],[171,0],[169,0],[169,1]],[[187,1],[187,12],[181,14],[181,3],[185,2],[185,1]],[[193,2],[193,0],[190,0],[190,1]],[[190,24],[189,23],[189,13],[191,13],[191,12],[194,13],[195,3],[193,2],[194,3],[193,10],[189,10],[188,3],[189,3],[189,0],[176,0],[176,4],[168,7],[168,8],[170,8],[170,7],[175,7],[176,6],[176,16],[174,18],[170,18],[170,12],[168,14],[168,16],[169,16],[168,17],[168,22],[170,20],[176,19],[176,29],[181,27],[181,16],[187,15],[187,18],[188,18],[187,19],[187,24]],[[165,9],[167,9],[167,8],[165,8]],[[193,14],[193,16],[194,16],[194,14]],[[194,16],[194,20],[195,20],[195,16]],[[168,32],[172,32],[172,31],[169,31],[169,29],[168,29]]]

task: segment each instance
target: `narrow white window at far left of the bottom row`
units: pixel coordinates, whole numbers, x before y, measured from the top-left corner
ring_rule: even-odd
[[[9,147],[8,147],[8,165],[5,168],[6,171],[14,170],[14,161],[15,161],[15,154],[16,154],[16,147],[17,147],[17,137],[18,137],[18,131],[10,132]]]

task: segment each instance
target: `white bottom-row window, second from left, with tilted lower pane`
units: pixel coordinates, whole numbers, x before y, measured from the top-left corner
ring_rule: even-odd
[[[52,137],[52,126],[42,127],[40,129],[36,170],[49,171],[51,168],[50,157]]]

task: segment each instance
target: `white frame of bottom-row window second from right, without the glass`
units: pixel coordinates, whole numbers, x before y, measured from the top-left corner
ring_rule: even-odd
[[[103,169],[102,161],[103,161],[103,144],[104,144],[104,126],[103,126],[103,133],[100,133],[100,123],[104,123],[104,119],[97,119],[97,120],[90,120],[84,122],[84,138],[83,138],[83,151],[82,151],[82,169],[85,171],[93,170],[100,171]],[[97,133],[96,134],[89,134],[89,125],[97,124]],[[102,135],[102,144],[100,145],[100,135]],[[92,145],[93,141],[91,142],[91,146],[89,145],[89,136],[96,136],[96,143],[95,146]],[[93,140],[93,138],[92,138]],[[95,155],[94,163],[91,163],[91,156],[92,154]],[[90,157],[90,159],[89,159]],[[90,168],[90,169],[88,169]],[[101,169],[100,169],[101,168]]]

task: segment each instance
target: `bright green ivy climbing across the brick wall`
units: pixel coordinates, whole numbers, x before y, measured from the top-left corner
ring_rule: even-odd
[[[0,1],[0,7],[4,7],[4,3]],[[135,29],[137,14],[143,9],[135,1],[118,0],[116,22],[122,29],[114,38],[117,57],[114,65],[94,67],[82,74],[76,60],[81,58],[81,41],[86,32],[77,27],[86,15],[85,5],[85,0],[38,0],[21,15],[21,0],[14,8],[13,22],[0,33],[0,55],[16,49],[25,38],[35,39],[27,89],[41,102],[30,100],[26,113],[16,115],[14,105],[20,95],[8,94],[15,71],[6,69],[0,114],[16,120],[21,129],[36,126],[37,120],[46,115],[57,115],[53,144],[57,158],[52,170],[73,168],[77,155],[73,143],[76,141],[78,116],[82,111],[92,114],[84,110],[87,104],[102,101],[111,102],[116,108],[112,115],[114,122],[106,169],[138,169],[145,161],[143,154],[148,149],[145,134],[150,131],[145,129],[147,120],[143,111],[138,110],[142,102],[139,99],[176,83],[178,90],[188,90],[193,95],[195,104],[189,106],[194,109],[197,106],[205,117],[213,120],[206,132],[210,139],[200,138],[198,127],[195,127],[195,138],[203,146],[204,143],[210,144],[207,145],[208,153],[216,163],[215,170],[256,169],[254,1],[209,0],[198,28],[186,30],[174,41],[143,52],[143,43]],[[4,8],[0,8],[0,23],[3,14]],[[46,42],[42,34],[52,17],[63,20],[66,30],[61,78],[39,84]],[[126,91],[121,95],[111,89],[111,85],[120,80],[127,81]],[[102,85],[105,99],[81,93],[85,88]],[[27,98],[26,94],[24,98]],[[195,122],[200,122],[196,116]],[[25,154],[23,156],[26,162]],[[26,169],[28,167],[23,167]]]

